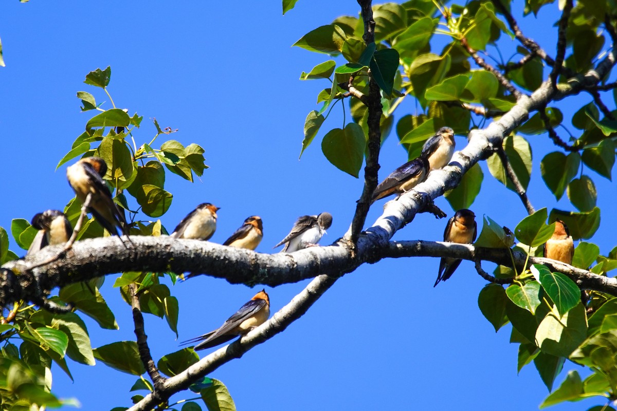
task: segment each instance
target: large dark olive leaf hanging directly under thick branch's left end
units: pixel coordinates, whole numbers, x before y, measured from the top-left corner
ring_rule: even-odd
[[[88,282],[73,283],[60,288],[58,296],[62,301],[72,303],[77,309],[94,319],[101,328],[117,330],[118,323],[114,313],[109,309],[105,299],[99,292],[102,277]]]

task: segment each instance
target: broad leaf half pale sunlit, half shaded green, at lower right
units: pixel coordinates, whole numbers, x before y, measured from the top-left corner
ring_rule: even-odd
[[[579,293],[579,303],[566,314],[560,318],[553,313],[544,317],[536,331],[536,344],[542,352],[568,357],[586,337],[587,316]]]

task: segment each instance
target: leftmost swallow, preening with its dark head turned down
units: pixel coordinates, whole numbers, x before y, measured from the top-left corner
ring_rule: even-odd
[[[35,229],[38,229],[35,239],[30,244],[26,255],[36,253],[48,245],[63,244],[68,242],[73,234],[70,222],[59,210],[46,210],[37,213],[31,221]]]

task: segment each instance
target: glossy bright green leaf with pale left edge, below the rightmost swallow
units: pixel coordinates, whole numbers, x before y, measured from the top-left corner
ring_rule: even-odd
[[[560,272],[550,272],[541,264],[531,266],[531,272],[542,284],[545,293],[553,300],[560,315],[565,315],[581,303],[581,290],[566,275]]]

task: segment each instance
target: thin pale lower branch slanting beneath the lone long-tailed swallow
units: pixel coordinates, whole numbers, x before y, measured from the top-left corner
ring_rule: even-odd
[[[165,401],[173,394],[189,388],[194,381],[212,373],[218,367],[233,359],[240,358],[258,344],[265,343],[273,336],[283,332],[292,322],[296,321],[327,291],[338,276],[318,275],[286,306],[276,312],[269,320],[249,332],[238,341],[217,349],[205,356],[196,364],[186,368],[178,375],[168,378],[162,388],[155,389],[154,393],[147,394],[141,401],[133,405],[129,411],[151,410],[160,401]]]

